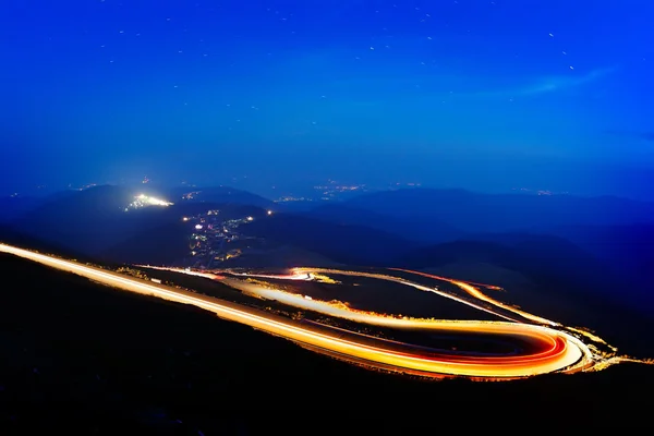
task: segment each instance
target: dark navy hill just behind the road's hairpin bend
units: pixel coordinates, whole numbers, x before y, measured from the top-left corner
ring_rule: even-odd
[[[529,233],[480,235],[477,240],[424,246],[401,256],[396,265],[455,277],[459,271],[462,279],[505,287],[510,301],[532,307],[562,301],[574,307],[595,305],[597,300],[619,301],[625,294],[616,289],[633,283],[565,239]],[[502,274],[497,275],[498,269]],[[521,282],[514,281],[517,276]],[[633,292],[629,296],[647,298]],[[552,305],[550,310],[558,316],[569,315],[565,306]]]

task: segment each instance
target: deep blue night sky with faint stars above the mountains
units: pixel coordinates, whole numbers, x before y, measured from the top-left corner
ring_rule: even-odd
[[[147,175],[643,197],[652,22],[645,0],[8,0],[0,193]]]

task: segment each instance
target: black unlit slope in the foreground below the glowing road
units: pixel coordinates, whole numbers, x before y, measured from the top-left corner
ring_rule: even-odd
[[[584,428],[620,428],[642,425],[642,398],[654,387],[652,367],[635,365],[509,384],[425,383],[12,256],[0,255],[0,434],[34,425],[84,434],[250,434],[256,423],[277,425],[261,411],[288,416],[284,432],[313,433],[318,421],[320,429],[342,425],[306,420],[335,416],[331,409],[355,412],[368,429],[388,428],[391,417],[404,429],[459,425],[462,414],[498,408],[496,420],[481,420],[486,427],[531,426],[560,408],[560,425],[579,416]],[[445,421],[435,423],[434,411]],[[388,419],[380,422],[379,413]]]

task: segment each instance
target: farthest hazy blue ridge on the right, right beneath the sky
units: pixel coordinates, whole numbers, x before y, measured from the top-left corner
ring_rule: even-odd
[[[654,203],[611,196],[498,195],[414,189],[365,194],[343,205],[419,222],[433,219],[474,233],[654,221]]]

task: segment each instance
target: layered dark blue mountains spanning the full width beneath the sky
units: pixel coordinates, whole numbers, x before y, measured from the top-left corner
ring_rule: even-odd
[[[174,204],[125,213],[136,193]],[[178,262],[190,251],[190,228],[182,217],[219,208],[226,217],[256,217],[240,231],[268,241],[226,266],[346,264],[474,271],[476,265],[488,276],[502,271],[521,277],[553,301],[564,292],[581,301],[606,294],[646,305],[654,294],[654,204],[625,198],[412,189],[292,214],[226,186],[106,185],[2,202],[2,217],[11,227],[4,228],[5,235],[15,232],[23,240],[113,262]]]

